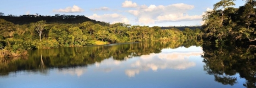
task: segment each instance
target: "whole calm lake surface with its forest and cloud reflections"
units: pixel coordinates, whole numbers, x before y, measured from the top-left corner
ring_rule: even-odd
[[[31,50],[1,59],[0,88],[255,87],[250,53],[240,63],[233,59],[246,50],[210,47],[190,40]]]

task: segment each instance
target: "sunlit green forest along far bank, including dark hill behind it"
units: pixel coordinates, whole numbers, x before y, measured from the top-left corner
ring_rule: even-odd
[[[64,17],[63,17],[64,16]],[[107,43],[127,43],[152,40],[200,38],[200,29],[131,26],[125,23],[107,24],[87,17],[58,15],[0,16],[0,57],[24,55],[24,50],[59,47],[79,47]],[[9,22],[10,21],[10,22]],[[36,22],[37,21],[37,22]],[[70,22],[75,21],[75,22]],[[14,23],[12,23],[14,22]],[[9,43],[9,42],[12,43]],[[18,46],[16,46],[18,45]],[[9,48],[8,48],[9,47]],[[14,51],[15,47],[20,50]],[[8,52],[5,52],[8,51]]]

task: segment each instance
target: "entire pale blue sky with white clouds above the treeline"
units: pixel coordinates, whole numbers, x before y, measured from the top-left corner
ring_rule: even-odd
[[[109,23],[131,25],[201,25],[202,14],[220,0],[1,0],[5,15],[85,15]],[[244,1],[235,1],[241,6]]]

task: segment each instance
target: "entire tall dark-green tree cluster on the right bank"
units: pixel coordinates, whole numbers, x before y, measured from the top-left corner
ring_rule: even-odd
[[[256,40],[256,0],[244,0],[244,6],[239,8],[231,7],[235,5],[234,1],[221,0],[213,5],[213,10],[206,12],[202,25],[204,38],[216,43]]]

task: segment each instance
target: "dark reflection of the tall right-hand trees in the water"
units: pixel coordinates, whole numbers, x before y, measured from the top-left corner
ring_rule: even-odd
[[[243,84],[247,88],[256,88],[255,48],[223,46],[216,48],[213,45],[203,44],[206,64],[204,70],[214,75],[215,81],[224,85],[236,84],[235,74],[246,79]]]

